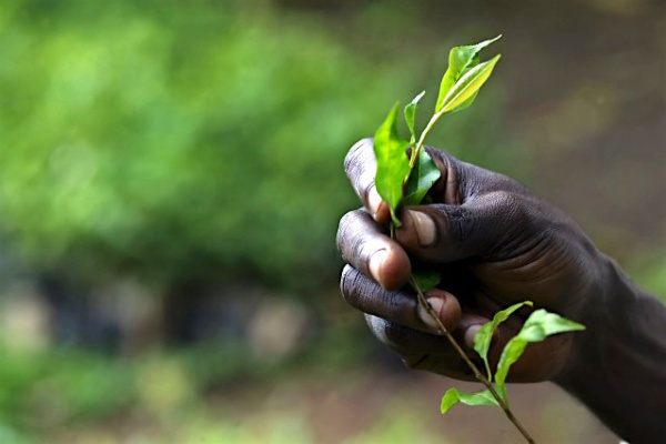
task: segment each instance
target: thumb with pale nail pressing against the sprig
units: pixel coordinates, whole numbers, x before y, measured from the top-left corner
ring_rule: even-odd
[[[396,241],[414,258],[446,263],[488,255],[523,219],[505,193],[492,193],[463,205],[410,206],[401,214]]]

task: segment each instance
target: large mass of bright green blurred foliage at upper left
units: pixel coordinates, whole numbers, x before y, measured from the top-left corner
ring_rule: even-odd
[[[395,39],[400,11],[363,20]],[[435,51],[361,53],[336,32],[265,2],[0,4],[4,243],[74,280],[333,282],[356,205],[344,154]],[[453,123],[460,140],[483,112]]]

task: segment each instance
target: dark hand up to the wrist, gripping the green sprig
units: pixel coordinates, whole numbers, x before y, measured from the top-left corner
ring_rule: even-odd
[[[428,193],[433,203],[401,210],[395,240],[387,235],[389,209],[374,188],[372,140],[356,143],[345,159],[364,208],[340,222],[337,245],[347,263],[341,289],[365,313],[375,336],[410,367],[471,379],[405,285],[417,261],[441,270],[442,283],[426,297],[473,360],[478,361],[474,334],[496,311],[516,302],[531,300],[535,307],[585,323],[604,261],[581,229],[517,182],[425,149],[442,176]],[[528,313],[518,312],[501,325],[490,351],[493,366]],[[556,335],[531,344],[509,381],[555,379],[573,361],[574,337]]]

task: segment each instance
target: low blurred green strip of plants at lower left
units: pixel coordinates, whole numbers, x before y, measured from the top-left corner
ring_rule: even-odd
[[[94,428],[128,414],[142,415],[145,426],[157,423],[185,434],[173,442],[190,442],[188,436],[196,432],[190,428],[196,425],[205,425],[199,433],[212,434],[211,440],[218,433],[253,434],[231,421],[213,426],[206,411],[211,393],[236,384],[248,390],[253,384],[285,383],[303,372],[339,376],[367,357],[359,334],[359,329],[329,329],[316,344],[274,360],[233,340],[124,357],[82,349],[33,353],[0,345],[0,442],[41,442],[49,430],[65,431],[74,424]],[[275,417],[273,425],[284,420]]]

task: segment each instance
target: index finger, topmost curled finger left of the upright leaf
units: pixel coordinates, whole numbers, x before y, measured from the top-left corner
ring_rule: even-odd
[[[356,142],[344,158],[344,172],[363,206],[379,223],[391,220],[389,205],[382,201],[375,188],[377,162],[374,157],[373,140],[367,138]]]

